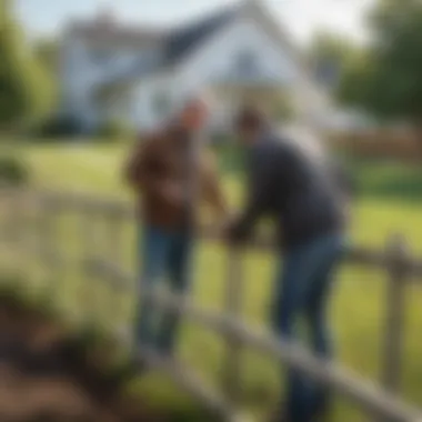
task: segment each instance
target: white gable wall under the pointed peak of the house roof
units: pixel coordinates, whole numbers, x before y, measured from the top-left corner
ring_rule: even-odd
[[[283,51],[279,40],[271,38],[259,22],[248,17],[239,18],[213,36],[184,61],[178,69],[174,81],[179,96],[212,88],[224,79],[233,80],[233,69],[242,52],[254,54],[259,62],[259,74],[270,81],[270,87],[285,89],[293,96],[302,120],[325,109],[326,99],[292,59],[291,53]],[[232,99],[232,103],[235,104],[237,99]],[[233,104],[225,105],[232,109]]]

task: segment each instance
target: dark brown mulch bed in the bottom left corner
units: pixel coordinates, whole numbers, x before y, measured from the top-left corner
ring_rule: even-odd
[[[100,353],[101,354],[101,353]],[[1,422],[164,422],[54,318],[0,295]]]

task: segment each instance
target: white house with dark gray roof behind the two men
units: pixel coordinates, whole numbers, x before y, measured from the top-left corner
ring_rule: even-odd
[[[202,90],[215,98],[215,124],[247,100],[277,110],[289,98],[307,119],[329,107],[298,48],[258,0],[167,30],[130,28],[110,13],[72,22],[61,70],[63,111],[84,130],[108,119],[150,130]]]

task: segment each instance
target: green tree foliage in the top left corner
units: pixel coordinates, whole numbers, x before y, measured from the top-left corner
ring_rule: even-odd
[[[41,118],[52,99],[51,84],[13,19],[10,0],[0,0],[0,129]]]

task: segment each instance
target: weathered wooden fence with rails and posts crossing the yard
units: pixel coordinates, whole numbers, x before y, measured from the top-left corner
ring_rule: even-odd
[[[81,279],[97,279],[107,283],[110,289],[110,308],[117,305],[115,298],[125,291],[132,292],[135,275],[127,272],[121,262],[124,249],[121,237],[122,224],[134,218],[133,210],[124,202],[96,199],[80,194],[60,194],[37,191],[13,191],[3,189],[0,192],[1,239],[7,249],[43,263],[49,280],[49,291],[54,294],[66,277],[66,264],[59,251],[57,221],[61,213],[72,212],[79,219],[79,242],[81,251]],[[32,219],[32,220],[31,220]],[[34,220],[33,220],[34,219]],[[102,222],[101,235],[100,227]],[[203,228],[202,235],[212,239],[215,231]],[[32,241],[28,241],[28,237]],[[100,242],[101,241],[101,242]],[[1,243],[0,243],[1,244]],[[100,257],[102,249],[107,255]],[[254,239],[251,248],[271,250],[271,242]],[[104,252],[105,251],[105,252]],[[352,248],[346,260],[354,264],[376,267],[386,270],[388,297],[383,355],[382,386],[350,373],[344,368],[332,364],[309,354],[299,345],[274,338],[259,328],[247,325],[239,311],[243,297],[243,283],[240,264],[240,250],[230,251],[225,304],[222,313],[214,313],[198,307],[188,297],[162,293],[155,290],[142,291],[157,307],[181,313],[184,318],[221,334],[225,341],[225,358],[222,362],[223,380],[221,391],[213,391],[197,376],[190,368],[182,366],[175,360],[161,356],[154,350],[141,348],[139,358],[153,366],[164,370],[173,381],[184,386],[195,398],[218,414],[218,420],[243,421],[239,404],[239,388],[242,379],[242,348],[253,348],[275,361],[295,368],[309,374],[318,382],[335,389],[336,393],[368,412],[376,421],[416,422],[422,421],[422,411],[399,399],[404,290],[411,278],[422,278],[422,262],[414,260],[408,252],[404,241],[393,237],[384,251],[372,251]],[[83,281],[83,280],[81,280]],[[80,283],[81,310],[90,318],[96,293],[87,291],[91,283]],[[93,293],[93,294],[92,294]],[[130,344],[130,336],[113,328],[114,335],[122,344]]]

